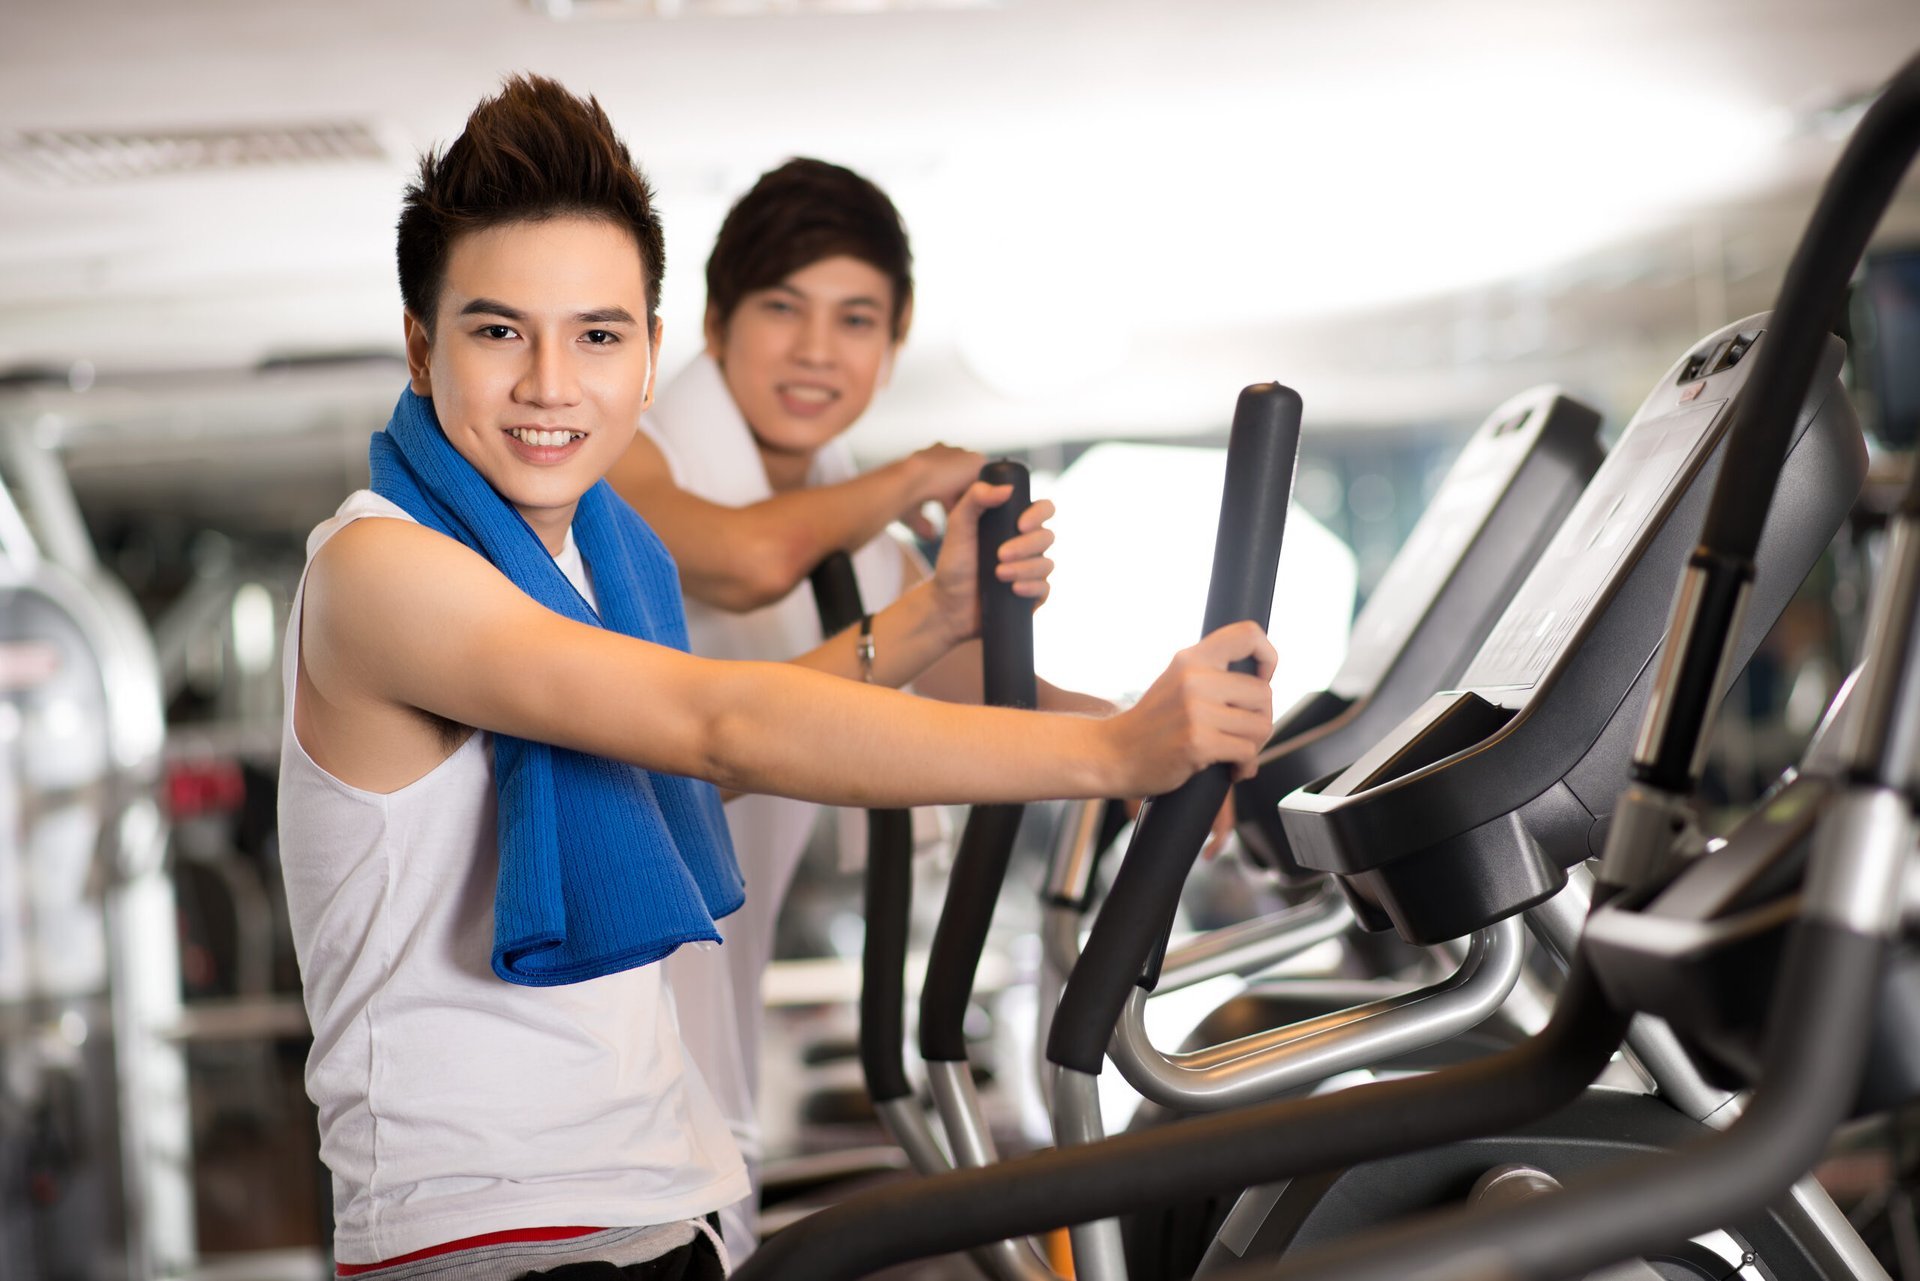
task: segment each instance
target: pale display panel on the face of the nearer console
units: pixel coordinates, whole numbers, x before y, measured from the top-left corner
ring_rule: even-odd
[[[1486,638],[1463,689],[1532,686],[1582,630],[1628,555],[1672,509],[1693,457],[1705,457],[1726,401],[1638,423],[1586,486],[1567,522]]]

